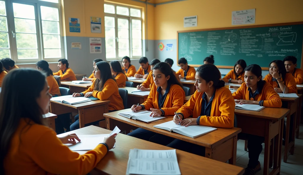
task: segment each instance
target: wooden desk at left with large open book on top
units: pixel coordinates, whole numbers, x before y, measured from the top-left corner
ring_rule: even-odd
[[[78,111],[80,128],[85,124],[104,119],[103,114],[108,113],[108,100],[88,101],[80,104],[65,104],[51,100],[51,113],[60,115]]]

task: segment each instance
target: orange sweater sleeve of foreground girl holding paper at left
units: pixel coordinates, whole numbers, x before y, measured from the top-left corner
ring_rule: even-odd
[[[69,150],[55,134],[49,130],[37,138],[31,158],[43,170],[54,174],[87,174],[105,156],[107,148],[99,144],[95,149],[80,155]]]

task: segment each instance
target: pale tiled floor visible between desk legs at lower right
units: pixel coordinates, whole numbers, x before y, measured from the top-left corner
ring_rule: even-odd
[[[281,163],[281,175],[303,175],[303,125],[300,125],[299,139],[295,140],[295,153],[289,155],[287,163],[283,162],[284,146],[282,147],[282,163]],[[260,154],[259,161],[261,163],[262,170],[257,174],[263,174],[263,159],[264,159],[264,144],[263,151]],[[237,144],[237,162],[239,167],[246,168],[248,163],[248,152],[244,151],[244,140],[238,140]],[[271,169],[269,169],[271,171]]]

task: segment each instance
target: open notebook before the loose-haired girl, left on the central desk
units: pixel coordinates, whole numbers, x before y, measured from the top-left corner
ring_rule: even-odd
[[[161,116],[150,117],[149,116],[150,114],[151,114],[151,111],[140,110],[140,111],[137,111],[137,112],[134,112],[134,111],[122,112],[119,115],[121,115],[122,117],[134,119],[134,120],[144,121],[146,123],[150,123],[150,122],[157,121],[157,120],[160,120],[162,118],[165,118],[165,117],[161,117]]]

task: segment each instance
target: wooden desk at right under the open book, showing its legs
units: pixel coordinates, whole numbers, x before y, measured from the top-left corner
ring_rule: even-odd
[[[259,112],[235,109],[237,127],[242,129],[242,133],[265,137],[263,174],[268,174],[270,142],[272,139],[274,162],[270,174],[277,174],[281,170],[283,122],[284,117],[289,112],[289,109],[271,107],[265,107]]]

